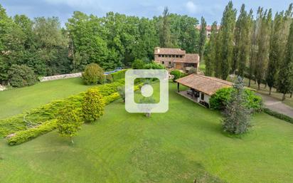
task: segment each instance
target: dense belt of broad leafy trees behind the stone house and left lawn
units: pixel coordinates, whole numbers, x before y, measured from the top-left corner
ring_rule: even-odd
[[[25,65],[36,76],[74,73],[89,63],[104,70],[148,63],[156,46],[198,53],[198,20],[170,14],[153,19],[107,13],[103,17],[75,11],[60,26],[57,17],[9,17],[0,5],[0,83],[9,83],[9,69]]]

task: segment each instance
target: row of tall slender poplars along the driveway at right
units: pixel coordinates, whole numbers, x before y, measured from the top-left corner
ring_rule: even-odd
[[[229,74],[277,88],[284,96],[293,90],[292,4],[272,16],[272,9],[259,7],[257,16],[241,6],[238,18],[232,1],[223,12],[220,30],[213,23],[206,44],[206,75],[226,79]],[[283,98],[284,100],[284,98]]]

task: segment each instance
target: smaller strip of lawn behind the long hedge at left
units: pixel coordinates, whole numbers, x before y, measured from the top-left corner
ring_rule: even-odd
[[[36,108],[52,100],[80,93],[90,86],[81,78],[69,78],[37,83],[25,88],[13,88],[0,92],[0,119]]]

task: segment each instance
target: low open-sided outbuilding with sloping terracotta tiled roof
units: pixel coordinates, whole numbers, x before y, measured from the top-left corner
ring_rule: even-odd
[[[217,90],[221,88],[230,88],[233,83],[227,80],[221,80],[206,75],[191,74],[176,80],[178,93],[209,107],[209,100]],[[184,85],[190,89],[180,91],[180,85]]]

